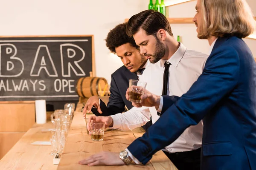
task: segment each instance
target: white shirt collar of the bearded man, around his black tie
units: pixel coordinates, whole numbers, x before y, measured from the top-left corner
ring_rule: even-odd
[[[177,49],[177,51],[172,55],[171,58],[169,58],[167,61],[169,63],[171,63],[172,65],[174,65],[175,67],[178,66],[180,60],[182,59],[183,55],[185,54],[186,52],[186,47],[181,43],[180,43],[180,46],[179,48]],[[164,67],[164,63],[166,62],[165,59],[161,59],[160,60],[160,66],[161,67]]]

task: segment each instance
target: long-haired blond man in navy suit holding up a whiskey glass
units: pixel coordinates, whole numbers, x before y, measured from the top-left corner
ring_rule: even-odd
[[[255,20],[245,0],[198,0],[196,10],[193,21],[198,38],[207,39],[211,46],[201,76],[173,105],[172,96],[150,92],[141,96],[140,104],[133,103],[155,107],[162,116],[121,152],[123,162],[114,153],[100,153],[85,162],[146,164],[154,153],[203,119],[201,170],[256,170],[256,63],[241,39],[253,33]],[[137,32],[150,16],[134,24],[137,18],[140,15],[131,17],[127,30],[140,44]]]

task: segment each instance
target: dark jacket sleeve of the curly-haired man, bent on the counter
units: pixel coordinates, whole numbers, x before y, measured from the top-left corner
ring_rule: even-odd
[[[113,74],[111,75],[110,93],[111,94],[108,100],[108,106],[106,106],[106,104],[102,100],[100,101],[100,108],[102,114],[100,114],[97,109],[92,108],[93,114],[95,114],[96,116],[111,116],[116,113],[122,113],[123,111],[125,111],[125,102],[123,101],[119,93]]]

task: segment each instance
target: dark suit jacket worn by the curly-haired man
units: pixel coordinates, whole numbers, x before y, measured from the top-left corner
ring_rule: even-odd
[[[125,97],[126,91],[129,87],[130,79],[138,79],[135,73],[131,73],[124,65],[117,69],[111,75],[111,87],[110,87],[110,97],[108,105],[101,100],[100,108],[102,114],[100,114],[97,109],[92,108],[93,114],[96,116],[110,116],[116,113],[122,113],[125,111],[125,105],[130,110],[133,106],[131,102]]]

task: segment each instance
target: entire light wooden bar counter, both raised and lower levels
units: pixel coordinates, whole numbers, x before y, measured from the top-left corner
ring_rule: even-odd
[[[88,167],[77,162],[100,151],[120,152],[128,147],[137,137],[145,133],[142,128],[134,130],[111,130],[106,129],[102,142],[93,142],[86,133],[85,122],[81,113],[80,103],[67,136],[64,152],[58,165],[53,164],[51,146],[31,145],[35,141],[49,141],[51,133],[49,129],[54,128],[52,122],[43,125],[33,125],[25,135],[12,147],[11,150],[0,160],[0,170],[177,170],[166,155],[159,151],[154,154],[151,161],[143,165],[125,166],[96,166]],[[87,115],[88,116],[88,115]],[[48,131],[47,131],[48,130]]]

